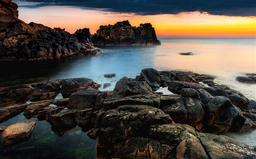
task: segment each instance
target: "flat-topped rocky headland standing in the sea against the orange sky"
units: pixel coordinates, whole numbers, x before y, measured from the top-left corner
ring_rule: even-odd
[[[101,25],[91,39],[95,46],[161,44],[150,23],[132,27],[128,20],[114,25]]]

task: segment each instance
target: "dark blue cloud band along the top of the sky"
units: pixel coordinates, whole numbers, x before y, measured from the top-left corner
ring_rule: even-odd
[[[23,7],[69,5],[111,12],[138,15],[177,14],[180,12],[208,12],[213,15],[256,16],[255,0],[27,0],[39,2]]]

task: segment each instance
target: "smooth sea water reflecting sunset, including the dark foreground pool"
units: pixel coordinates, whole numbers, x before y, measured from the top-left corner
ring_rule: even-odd
[[[113,90],[124,76],[135,78],[144,68],[158,71],[192,71],[215,76],[214,82],[240,91],[247,98],[256,100],[256,84],[241,83],[237,76],[256,73],[256,39],[159,39],[157,46],[108,46],[97,47],[102,54],[61,59],[32,61],[1,61],[0,87],[40,82],[45,80],[87,77],[111,86],[101,91]],[[191,52],[193,55],[180,55]],[[116,73],[116,77],[103,75]],[[23,113],[1,123],[6,128],[12,123],[27,120]],[[34,118],[33,120],[37,120]],[[227,133],[240,142],[256,146],[256,131],[243,134]],[[38,121],[29,140],[12,147],[0,143],[3,158],[94,158],[97,140],[86,136],[76,127],[59,137],[51,125]],[[40,156],[38,156],[40,154]]]

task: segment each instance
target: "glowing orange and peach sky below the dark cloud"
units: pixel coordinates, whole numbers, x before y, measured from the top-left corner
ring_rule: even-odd
[[[182,12],[177,15],[135,15],[133,13],[105,12],[68,6],[49,6],[36,9],[19,7],[19,19],[48,27],[76,29],[90,28],[91,34],[100,25],[129,20],[132,26],[151,23],[158,38],[255,38],[256,17],[209,15],[206,12]]]

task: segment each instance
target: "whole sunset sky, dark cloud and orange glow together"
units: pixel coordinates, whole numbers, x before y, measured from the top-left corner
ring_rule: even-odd
[[[129,20],[158,38],[256,38],[255,0],[13,0],[19,19],[74,33]]]

